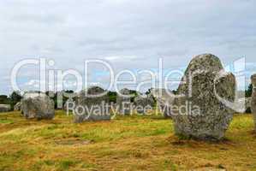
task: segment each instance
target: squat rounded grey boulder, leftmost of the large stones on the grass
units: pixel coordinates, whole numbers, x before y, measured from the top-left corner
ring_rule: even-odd
[[[21,100],[21,110],[27,119],[51,120],[55,115],[53,100],[39,93],[26,93]]]

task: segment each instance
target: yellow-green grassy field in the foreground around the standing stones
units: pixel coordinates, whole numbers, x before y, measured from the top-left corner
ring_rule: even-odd
[[[74,124],[0,114],[0,170],[256,170],[251,115],[236,115],[219,143],[177,139],[172,122],[122,116]]]

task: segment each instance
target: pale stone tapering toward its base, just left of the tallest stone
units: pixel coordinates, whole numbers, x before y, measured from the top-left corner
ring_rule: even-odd
[[[165,89],[152,89],[152,96],[156,98],[158,109],[165,118],[171,118],[172,105],[175,99],[175,95],[170,90]]]

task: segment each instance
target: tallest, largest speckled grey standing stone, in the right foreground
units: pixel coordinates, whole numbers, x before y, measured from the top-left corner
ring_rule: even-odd
[[[235,86],[235,76],[224,72],[217,56],[195,56],[177,91],[183,97],[175,98],[175,133],[194,139],[223,139],[234,114],[226,103],[234,102]]]

